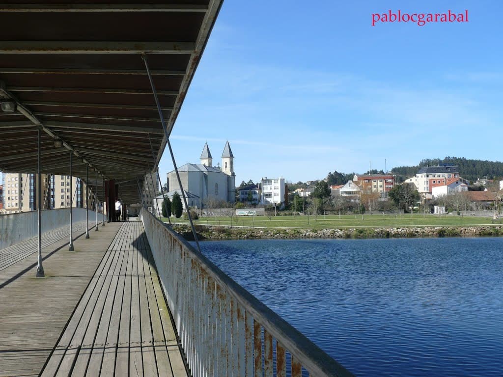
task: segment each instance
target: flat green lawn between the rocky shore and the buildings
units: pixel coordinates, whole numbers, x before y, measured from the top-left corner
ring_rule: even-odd
[[[163,218],[167,222],[166,218]],[[187,220],[174,219],[173,223],[188,223]],[[338,215],[318,216],[316,220],[312,216],[255,216],[255,219],[245,216],[234,216],[232,223],[229,216],[225,217],[202,217],[194,221],[200,225],[221,225],[256,228],[367,228],[367,227],[422,227],[422,226],[483,226],[500,225],[501,222],[493,222],[491,217],[473,216],[438,216],[422,214],[402,215]]]

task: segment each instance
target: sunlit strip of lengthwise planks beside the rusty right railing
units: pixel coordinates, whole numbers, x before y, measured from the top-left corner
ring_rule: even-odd
[[[122,224],[42,376],[187,376],[143,225]]]

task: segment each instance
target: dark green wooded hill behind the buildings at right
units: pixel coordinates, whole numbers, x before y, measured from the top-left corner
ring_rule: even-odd
[[[477,178],[487,176],[488,179],[500,179],[503,176],[503,162],[471,160],[464,157],[427,158],[421,160],[417,166],[398,166],[391,169],[392,174],[399,176],[399,182],[410,178],[422,167],[437,166],[441,163],[450,163],[459,167],[459,175],[471,183]]]

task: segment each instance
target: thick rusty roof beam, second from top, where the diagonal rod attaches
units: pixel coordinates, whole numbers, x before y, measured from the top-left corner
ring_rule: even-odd
[[[193,42],[0,41],[2,54],[191,54]]]

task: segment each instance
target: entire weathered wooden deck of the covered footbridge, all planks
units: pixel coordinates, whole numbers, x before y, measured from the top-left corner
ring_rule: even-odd
[[[44,261],[50,277],[2,287],[30,258],[0,271],[0,376],[187,376],[142,223],[90,234]]]

